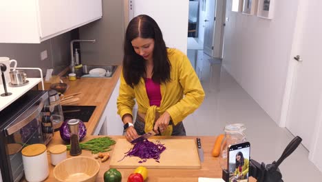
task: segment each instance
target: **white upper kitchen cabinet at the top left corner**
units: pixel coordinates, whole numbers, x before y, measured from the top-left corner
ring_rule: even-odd
[[[1,1],[0,43],[41,43],[102,15],[102,0]]]

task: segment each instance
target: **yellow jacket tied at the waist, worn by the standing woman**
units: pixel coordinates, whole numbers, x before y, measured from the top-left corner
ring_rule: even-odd
[[[204,90],[195,74],[195,70],[186,55],[180,50],[168,48],[168,58],[171,63],[171,81],[161,83],[160,107],[150,106],[144,79],[131,88],[125,82],[123,74],[120,77],[120,93],[118,95],[118,114],[132,114],[134,99],[138,103],[138,112],[145,113],[145,132],[153,130],[155,112],[169,112],[174,125],[195,111],[204,100]],[[171,135],[172,125],[162,135]]]

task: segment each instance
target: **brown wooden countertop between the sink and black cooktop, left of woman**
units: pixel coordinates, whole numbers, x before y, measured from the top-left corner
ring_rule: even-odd
[[[81,92],[76,97],[80,101],[73,105],[95,105],[96,108],[88,122],[84,122],[87,128],[87,134],[93,134],[100,117],[102,116],[105,106],[111,97],[115,85],[120,77],[122,66],[118,65],[116,72],[111,78],[81,78],[76,81],[63,79],[69,85],[64,93],[65,95]]]

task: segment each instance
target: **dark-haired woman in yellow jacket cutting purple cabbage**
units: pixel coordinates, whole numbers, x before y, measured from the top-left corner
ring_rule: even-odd
[[[182,120],[204,100],[204,90],[189,59],[167,48],[158,24],[147,15],[127,26],[120,77],[118,114],[128,141],[154,130],[162,135],[186,135]],[[133,105],[138,114],[133,125]]]

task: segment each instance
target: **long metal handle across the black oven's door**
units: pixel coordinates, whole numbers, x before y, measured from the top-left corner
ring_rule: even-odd
[[[38,105],[32,105],[28,110],[26,110],[23,114],[21,114],[16,122],[14,122],[12,125],[9,125],[6,129],[6,134],[11,135],[14,132],[17,132],[21,128],[23,128],[25,125],[33,121],[39,113],[41,113],[41,110],[43,110],[43,99],[41,98]]]

